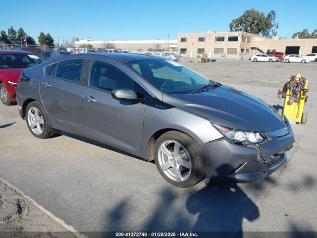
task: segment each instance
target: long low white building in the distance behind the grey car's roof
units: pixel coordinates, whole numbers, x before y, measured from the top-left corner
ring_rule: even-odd
[[[127,49],[132,51],[148,51],[148,49],[154,50],[166,50],[168,47],[170,51],[177,49],[177,40],[124,40],[124,41],[87,41],[80,40],[74,42],[75,47],[83,47],[88,44],[94,48],[106,48],[107,44],[113,44],[116,49]],[[167,46],[168,45],[168,46]]]

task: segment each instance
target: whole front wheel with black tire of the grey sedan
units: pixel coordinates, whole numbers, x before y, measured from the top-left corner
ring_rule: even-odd
[[[158,138],[155,164],[160,175],[177,187],[193,186],[206,175],[202,148],[180,131],[168,131]]]

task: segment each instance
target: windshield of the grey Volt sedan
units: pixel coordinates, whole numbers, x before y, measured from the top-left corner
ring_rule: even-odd
[[[185,94],[207,85],[218,86],[182,64],[169,60],[135,60],[126,64],[165,93]]]

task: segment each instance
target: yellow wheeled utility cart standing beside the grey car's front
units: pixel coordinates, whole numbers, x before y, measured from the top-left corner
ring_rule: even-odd
[[[278,90],[278,98],[284,98],[284,107],[282,113],[290,122],[302,123],[307,122],[307,112],[304,112],[304,105],[308,96],[308,80],[300,74],[291,75],[283,87],[283,91]]]

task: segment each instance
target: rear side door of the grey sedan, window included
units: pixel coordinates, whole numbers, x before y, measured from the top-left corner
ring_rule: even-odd
[[[40,82],[44,107],[56,129],[82,135],[81,95],[84,59],[63,60],[47,67]]]

